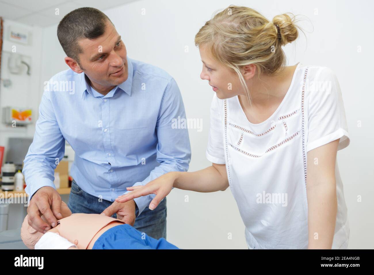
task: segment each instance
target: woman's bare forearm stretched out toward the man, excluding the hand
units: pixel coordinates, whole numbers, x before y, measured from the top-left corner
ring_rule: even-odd
[[[196,192],[215,192],[229,187],[226,166],[215,165],[195,172],[172,172],[175,176],[173,186],[178,189]]]

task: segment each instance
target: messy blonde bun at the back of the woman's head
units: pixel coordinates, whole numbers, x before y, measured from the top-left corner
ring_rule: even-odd
[[[292,18],[289,16],[292,15]],[[298,37],[298,31],[294,25],[295,16],[292,13],[283,13],[273,18],[275,30],[278,32],[276,25],[281,30],[281,43],[282,46],[295,41]]]

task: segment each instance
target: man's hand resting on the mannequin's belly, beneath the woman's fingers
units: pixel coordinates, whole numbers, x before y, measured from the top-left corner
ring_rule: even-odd
[[[125,223],[134,226],[135,223],[135,201],[132,199],[128,202],[114,201],[107,209],[102,211],[102,215],[112,216],[117,213],[117,219],[125,221]]]

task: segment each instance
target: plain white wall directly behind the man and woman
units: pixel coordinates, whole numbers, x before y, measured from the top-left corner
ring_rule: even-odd
[[[203,131],[189,129],[192,160],[190,171],[211,165],[205,158],[212,89],[200,79],[202,64],[194,36],[217,9],[232,1],[135,1],[103,10],[123,37],[131,58],[157,65],[177,81],[188,118],[203,120]],[[323,65],[338,76],[343,93],[351,144],[338,152],[349,211],[349,248],[374,248],[373,194],[373,89],[374,44],[371,2],[366,7],[349,1],[236,1],[273,16],[293,12],[305,15],[300,38],[284,48],[289,65]],[[370,7],[367,7],[370,6]],[[141,15],[142,9],[145,15]],[[354,24],[353,24],[354,22]],[[41,81],[65,70],[64,52],[56,37],[56,25],[43,30]],[[314,28],[314,30],[313,30]],[[307,39],[306,39],[307,38]],[[185,52],[188,46],[188,52]],[[358,52],[361,46],[362,51]],[[42,90],[40,90],[42,91]],[[41,94],[40,94],[41,95]],[[358,123],[362,126],[359,127]],[[189,196],[189,202],[184,196]],[[362,202],[357,202],[357,196]],[[247,248],[244,225],[230,189],[196,193],[174,189],[168,196],[168,241],[181,248]],[[232,239],[227,238],[232,233]]]

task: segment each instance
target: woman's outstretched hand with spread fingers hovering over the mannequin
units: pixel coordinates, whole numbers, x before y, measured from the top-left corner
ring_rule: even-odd
[[[150,181],[144,186],[127,187],[127,190],[132,192],[119,196],[116,198],[116,202],[126,202],[141,196],[156,194],[156,197],[149,204],[149,209],[154,210],[154,208],[159,205],[160,201],[170,193],[176,178],[177,172],[169,172]]]

